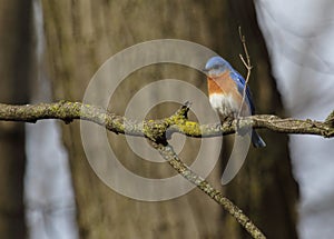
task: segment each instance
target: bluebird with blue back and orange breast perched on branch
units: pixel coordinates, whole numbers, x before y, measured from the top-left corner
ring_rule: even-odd
[[[245,79],[220,57],[210,58],[204,71],[207,76],[208,96],[212,107],[218,112],[220,120],[236,119],[243,101]],[[255,113],[249,88],[246,86],[246,96],[240,116]],[[256,148],[265,147],[266,143],[252,130],[252,142]]]

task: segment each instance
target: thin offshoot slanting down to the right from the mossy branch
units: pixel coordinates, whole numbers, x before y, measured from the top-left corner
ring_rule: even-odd
[[[220,205],[226,211],[228,211],[244,228],[245,230],[253,237],[257,239],[266,238],[263,232],[253,223],[253,221],[228,198],[224,197],[224,195],[215,189],[213,186],[208,183],[205,179],[196,175],[191,169],[185,165],[179,157],[174,151],[173,147],[167,145],[164,146],[161,143],[151,142],[153,147],[159,151],[163,158],[185,179],[189,182],[194,183],[197,188],[199,188],[204,193],[209,196],[213,200],[215,200],[218,205]]]

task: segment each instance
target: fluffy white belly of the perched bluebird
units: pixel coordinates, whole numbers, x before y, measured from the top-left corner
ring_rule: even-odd
[[[238,113],[238,103],[233,100],[230,94],[222,96],[213,93],[209,96],[209,101],[212,107],[222,116],[222,117],[237,117]]]

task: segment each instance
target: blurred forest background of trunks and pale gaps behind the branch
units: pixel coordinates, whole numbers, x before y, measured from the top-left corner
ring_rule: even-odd
[[[323,120],[334,108],[327,93],[334,89],[334,4],[289,1],[287,8],[286,2],[0,0],[0,102],[81,101],[108,58],[154,39],[200,43],[245,74],[238,57],[240,26],[254,64],[249,84],[257,112]],[[140,69],[119,86],[110,110],[124,114],[138,89],[159,79],[181,79],[206,92],[204,77],[170,64]],[[148,117],[166,117],[177,108],[164,103]],[[233,137],[225,137],[222,160],[208,180],[268,238],[328,238],[333,140],[261,135],[267,147],[250,148],[237,177],[223,187],[233,143]],[[175,173],[167,163],[140,160],[124,136],[108,137],[136,173]],[[187,163],[196,147],[198,140],[186,140],[181,156]],[[0,238],[248,238],[197,189],[161,202],[136,201],[109,189],[86,159],[78,121],[0,122]],[[97,151],[97,160],[102,153]]]

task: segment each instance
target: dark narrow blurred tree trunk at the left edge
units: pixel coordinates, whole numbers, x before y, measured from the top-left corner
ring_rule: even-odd
[[[0,101],[27,103],[30,77],[30,1],[0,1]],[[24,125],[0,123],[0,238],[24,238]]]

